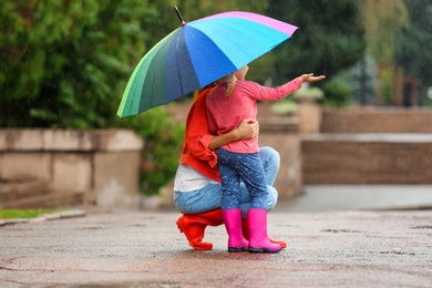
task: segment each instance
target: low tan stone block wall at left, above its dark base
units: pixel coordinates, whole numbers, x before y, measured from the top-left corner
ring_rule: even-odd
[[[0,179],[41,179],[102,209],[138,208],[143,145],[126,130],[0,130]]]

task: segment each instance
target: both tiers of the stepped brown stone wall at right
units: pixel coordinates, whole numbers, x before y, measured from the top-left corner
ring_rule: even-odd
[[[432,111],[323,109],[302,135],[305,184],[431,184]]]

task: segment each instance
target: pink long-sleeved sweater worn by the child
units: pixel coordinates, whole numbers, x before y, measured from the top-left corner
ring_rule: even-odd
[[[225,96],[227,83],[215,86],[207,96],[207,117],[212,134],[222,135],[236,128],[245,119],[257,117],[257,100],[277,101],[301,88],[299,78],[278,88],[238,80],[230,97]],[[257,153],[258,137],[239,140],[224,146],[236,153]]]

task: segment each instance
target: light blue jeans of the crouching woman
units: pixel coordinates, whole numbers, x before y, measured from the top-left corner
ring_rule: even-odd
[[[278,199],[278,192],[272,187],[279,172],[280,156],[271,147],[261,147],[258,152],[264,167],[265,183],[267,185],[267,207],[271,210]],[[192,192],[174,192],[174,203],[183,214],[197,214],[222,207],[222,185],[208,184],[200,189]],[[240,183],[238,206],[241,208],[243,217],[246,217],[250,208],[251,198],[244,183]]]

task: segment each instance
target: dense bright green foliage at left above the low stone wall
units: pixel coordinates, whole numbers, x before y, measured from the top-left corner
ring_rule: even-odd
[[[0,125],[113,125],[156,16],[141,0],[3,1]]]

